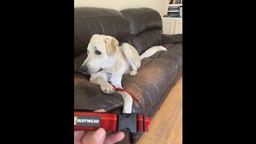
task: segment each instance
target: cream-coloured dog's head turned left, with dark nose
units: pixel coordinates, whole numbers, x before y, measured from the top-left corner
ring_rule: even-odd
[[[95,34],[87,47],[87,58],[81,69],[85,74],[95,74],[105,69],[112,62],[118,41],[115,37]]]

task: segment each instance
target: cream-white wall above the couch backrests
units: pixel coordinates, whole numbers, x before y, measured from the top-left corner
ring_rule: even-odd
[[[74,0],[75,7],[89,6],[89,7],[103,7],[109,9],[115,9],[118,11],[129,9],[129,8],[139,8],[139,7],[149,7],[158,11],[163,17],[167,9],[168,0]]]

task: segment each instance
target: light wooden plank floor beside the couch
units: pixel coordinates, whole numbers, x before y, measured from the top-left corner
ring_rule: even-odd
[[[137,143],[182,143],[182,77]]]

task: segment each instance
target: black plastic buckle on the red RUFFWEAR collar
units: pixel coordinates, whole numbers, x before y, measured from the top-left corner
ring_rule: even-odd
[[[123,132],[131,132],[131,133],[144,133],[145,132],[145,116],[143,115],[143,132],[137,131],[137,115],[136,113],[132,114],[120,114],[118,115],[117,121],[117,130],[113,133],[117,133],[119,131]]]

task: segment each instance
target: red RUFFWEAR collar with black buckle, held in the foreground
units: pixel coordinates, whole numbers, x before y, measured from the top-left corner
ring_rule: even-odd
[[[95,131],[102,127],[106,131],[131,133],[148,132],[152,119],[142,114],[75,112],[74,130]]]

